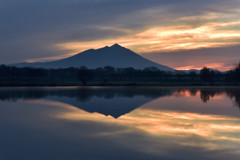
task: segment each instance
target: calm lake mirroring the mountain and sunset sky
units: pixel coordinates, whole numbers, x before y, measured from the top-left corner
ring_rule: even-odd
[[[1,88],[1,160],[240,159],[240,88]]]

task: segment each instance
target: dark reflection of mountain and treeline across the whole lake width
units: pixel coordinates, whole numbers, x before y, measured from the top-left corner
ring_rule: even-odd
[[[165,96],[199,96],[204,103],[226,95],[240,108],[239,88],[172,87],[45,87],[1,88],[1,101],[47,99],[70,104],[89,113],[118,118],[145,103]]]

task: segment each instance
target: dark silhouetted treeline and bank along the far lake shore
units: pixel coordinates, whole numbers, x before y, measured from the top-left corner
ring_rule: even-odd
[[[227,72],[161,71],[134,68],[17,68],[0,65],[0,87],[7,86],[240,86],[240,63]]]

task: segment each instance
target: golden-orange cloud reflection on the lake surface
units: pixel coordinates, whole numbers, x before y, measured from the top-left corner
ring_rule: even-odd
[[[125,127],[117,132],[97,133],[96,136],[119,136],[129,132],[142,132],[155,138],[166,138],[181,146],[202,147],[208,151],[237,149],[240,145],[240,118],[182,113],[169,110],[137,109],[119,119],[103,117],[97,113],[69,111],[56,115],[71,121],[91,121]],[[145,135],[145,136],[147,136]],[[147,136],[147,137],[148,137]],[[202,140],[198,143],[198,140]],[[221,144],[221,145],[219,145]]]

